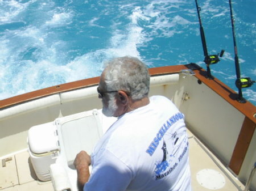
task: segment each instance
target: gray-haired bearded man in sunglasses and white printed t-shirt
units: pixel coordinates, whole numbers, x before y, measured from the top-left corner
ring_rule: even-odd
[[[147,67],[137,58],[108,63],[98,96],[102,112],[118,120],[91,156],[77,154],[79,190],[191,190],[184,115],[166,97],[148,97],[149,86]]]

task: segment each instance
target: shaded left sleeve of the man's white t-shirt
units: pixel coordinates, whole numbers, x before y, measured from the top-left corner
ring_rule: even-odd
[[[127,165],[105,150],[92,167],[89,181],[84,191],[124,191],[132,180],[133,174]]]

